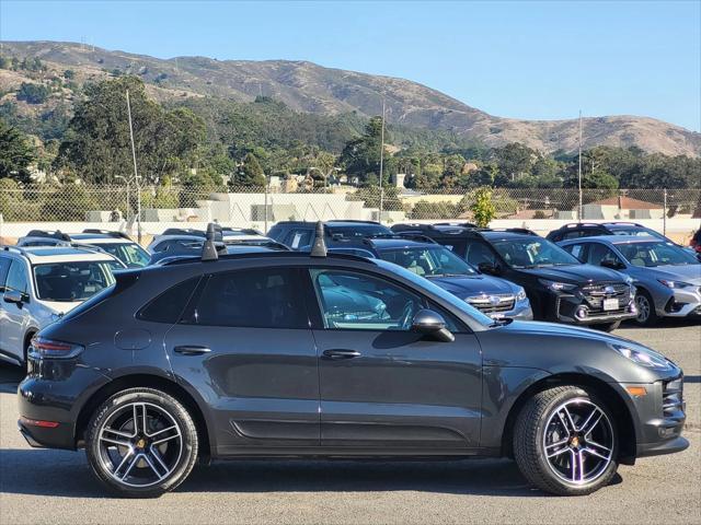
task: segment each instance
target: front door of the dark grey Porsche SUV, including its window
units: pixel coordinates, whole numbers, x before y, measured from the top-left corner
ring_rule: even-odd
[[[430,305],[389,279],[321,268],[311,279],[321,311],[314,339],[322,445],[394,452],[476,446],[476,338],[457,322],[449,322],[453,342],[412,331],[414,314]]]

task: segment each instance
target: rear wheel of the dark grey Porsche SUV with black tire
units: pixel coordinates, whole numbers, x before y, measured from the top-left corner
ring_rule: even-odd
[[[145,407],[142,412],[139,412],[141,410],[140,407]],[[125,432],[125,429],[128,429],[128,432],[137,434],[139,431],[138,424],[140,423],[133,423],[131,428],[128,427],[130,409],[134,410],[135,415],[130,420],[136,421],[138,419],[138,421],[142,421],[143,418],[143,421],[147,421],[143,423],[147,429],[145,431],[146,435],[149,433],[149,428],[156,427],[157,430],[152,431],[148,438],[143,434],[139,434],[143,435],[143,438],[139,435],[123,438],[107,430],[115,428],[112,424],[116,425],[118,421],[125,421],[120,431]],[[151,416],[148,415],[148,410],[151,411]],[[159,418],[166,422],[163,423]],[[137,427],[134,427],[134,424],[137,424]],[[143,424],[141,425],[142,428]],[[159,424],[165,430],[159,431]],[[174,430],[168,431],[169,428]],[[169,435],[174,435],[175,433],[177,433],[176,436],[169,438]],[[153,436],[153,434],[156,435]],[[105,436],[112,436],[119,441],[130,441],[134,446],[126,448],[114,444],[105,445]],[[158,443],[154,442],[163,440],[163,438],[169,438],[171,441],[157,446]],[[147,443],[149,442],[151,444],[147,448]],[[153,450],[153,446],[157,446],[157,448]],[[168,447],[170,446],[172,448],[169,453]],[[169,394],[153,388],[129,388],[113,395],[95,410],[85,431],[85,453],[92,471],[112,492],[124,498],[157,498],[176,488],[192,471],[197,460],[197,428],[187,409]],[[130,451],[128,454],[127,450]],[[119,457],[120,454],[123,455]],[[127,458],[127,455],[131,459]],[[154,457],[154,455],[158,457]],[[139,459],[139,457],[143,458]],[[171,458],[170,463],[168,463],[169,457]],[[113,458],[116,458],[116,460]],[[125,468],[128,468],[123,478],[126,481],[115,479],[115,476],[123,472],[116,466],[119,459],[130,462],[130,464],[126,464]],[[156,459],[161,462],[160,465]],[[119,465],[124,462],[120,462]],[[171,463],[172,469],[165,475]],[[163,472],[163,477],[160,478],[161,474],[157,472],[153,466],[149,467],[149,465],[156,465]],[[153,482],[148,480],[148,470],[156,478]],[[131,471],[135,474],[130,475]],[[127,476],[129,477],[127,478]],[[142,476],[143,479],[138,476]],[[129,482],[131,478],[137,479],[141,485]]]

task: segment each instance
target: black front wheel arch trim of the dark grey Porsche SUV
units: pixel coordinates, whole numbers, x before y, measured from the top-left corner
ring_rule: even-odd
[[[625,465],[633,465],[636,455],[636,436],[639,425],[633,418],[631,407],[627,404],[621,393],[617,390],[610,383],[601,381],[595,376],[579,373],[559,373],[543,377],[526,388],[510,406],[504,429],[502,431],[502,456],[514,457],[514,427],[518,415],[528,399],[537,393],[555,387],[555,386],[581,386],[593,388],[609,404],[609,409],[613,412],[618,422],[621,444],[619,447],[619,460]]]

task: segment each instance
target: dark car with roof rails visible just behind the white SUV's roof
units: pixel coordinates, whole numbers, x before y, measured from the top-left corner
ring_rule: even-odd
[[[148,265],[149,254],[124,232],[85,229],[82,233],[64,233],[58,230],[32,230],[18,240],[18,246],[61,246],[101,249],[116,257],[127,268]]]

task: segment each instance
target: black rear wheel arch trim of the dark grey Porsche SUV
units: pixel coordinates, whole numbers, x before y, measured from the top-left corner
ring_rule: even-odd
[[[101,388],[95,390],[88,401],[81,407],[78,418],[76,419],[74,441],[78,446],[84,439],[84,433],[94,411],[111,396],[118,392],[129,388],[146,387],[154,388],[171,395],[180,401],[192,416],[197,428],[199,451],[198,457],[200,463],[207,463],[212,456],[214,431],[210,422],[205,417],[199,402],[180,384],[163,377],[161,375],[151,374],[130,374],[123,375],[110,381]]]

